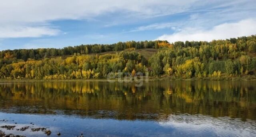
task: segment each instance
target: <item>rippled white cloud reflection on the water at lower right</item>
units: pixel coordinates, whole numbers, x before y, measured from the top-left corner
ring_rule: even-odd
[[[230,117],[210,117],[207,115],[169,115],[160,121],[163,127],[174,128],[173,135],[183,133],[188,136],[212,135],[225,137],[256,136],[256,121],[241,121]]]

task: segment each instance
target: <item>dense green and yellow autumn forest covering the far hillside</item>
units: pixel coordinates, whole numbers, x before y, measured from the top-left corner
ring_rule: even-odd
[[[158,52],[149,59],[136,52],[147,48],[158,49]],[[97,54],[102,52],[113,53]],[[175,79],[254,79],[256,35],[212,42],[129,41],[0,52],[1,79],[96,79],[122,72]]]

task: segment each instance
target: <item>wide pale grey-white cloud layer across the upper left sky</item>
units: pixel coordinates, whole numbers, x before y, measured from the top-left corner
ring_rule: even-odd
[[[89,20],[116,12],[138,18],[175,14],[188,10],[196,1],[5,0],[0,4],[0,38],[53,36],[59,31],[42,24],[55,20]]]

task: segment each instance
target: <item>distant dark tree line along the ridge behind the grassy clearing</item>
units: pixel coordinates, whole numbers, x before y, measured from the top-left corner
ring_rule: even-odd
[[[92,54],[111,51],[121,51],[126,49],[158,48],[158,43],[167,41],[144,41],[144,42],[118,42],[116,44],[90,44],[79,46],[68,46],[61,49],[56,48],[39,48],[39,49],[18,49],[0,51],[1,59],[12,58],[9,62],[15,60],[40,60],[47,57],[69,56],[74,54]]]

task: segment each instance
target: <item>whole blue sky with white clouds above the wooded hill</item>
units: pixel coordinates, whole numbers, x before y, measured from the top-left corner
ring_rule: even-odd
[[[0,0],[0,50],[256,34],[255,0]]]

